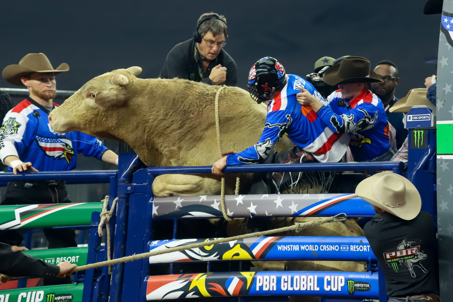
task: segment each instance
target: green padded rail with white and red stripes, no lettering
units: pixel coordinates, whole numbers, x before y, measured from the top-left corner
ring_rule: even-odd
[[[101,208],[101,202],[0,206],[0,230],[90,225],[92,212]]]

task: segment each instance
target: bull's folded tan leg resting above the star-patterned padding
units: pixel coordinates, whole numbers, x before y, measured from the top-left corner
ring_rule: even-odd
[[[220,192],[220,181],[209,175],[164,174],[153,182],[153,193],[157,197],[214,195],[217,192]]]

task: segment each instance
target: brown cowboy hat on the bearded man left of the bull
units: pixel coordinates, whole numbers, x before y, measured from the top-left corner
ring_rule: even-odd
[[[3,69],[3,78],[17,86],[23,86],[21,77],[33,72],[53,72],[58,74],[63,71],[68,71],[69,66],[66,63],[61,63],[56,69],[53,69],[49,59],[43,53],[29,53],[19,61],[18,64],[8,65]]]

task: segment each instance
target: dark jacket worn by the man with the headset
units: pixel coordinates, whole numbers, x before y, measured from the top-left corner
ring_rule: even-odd
[[[221,64],[226,67],[226,86],[236,86],[237,83],[237,66],[236,62],[230,57],[228,53],[222,48],[217,58],[209,62],[209,66],[204,72],[204,79],[200,77],[198,66],[202,68],[201,60],[198,57],[195,60],[195,41],[193,39],[187,40],[183,43],[176,44],[172,50],[167,54],[164,62],[164,67],[159,74],[162,79],[173,79],[178,77],[180,79],[188,79],[196,82],[203,82],[211,85],[209,79],[213,67]],[[198,62],[197,62],[198,61]]]

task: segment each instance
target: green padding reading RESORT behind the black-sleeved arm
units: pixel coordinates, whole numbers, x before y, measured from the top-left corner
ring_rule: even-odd
[[[39,258],[44,262],[50,264],[59,264],[60,262],[69,261],[71,263],[80,265],[87,264],[88,247],[81,248],[66,248],[66,249],[35,249],[31,251],[24,251],[35,258]],[[0,300],[1,302],[1,300]]]

